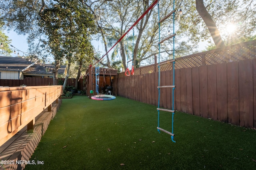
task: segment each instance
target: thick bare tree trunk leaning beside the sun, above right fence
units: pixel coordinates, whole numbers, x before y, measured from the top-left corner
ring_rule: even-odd
[[[216,47],[224,47],[225,45],[220,36],[220,32],[216,27],[216,23],[212,20],[212,16],[207,12],[203,0],[196,0],[196,10],[198,14],[201,16],[201,18],[204,20],[204,23],[206,24],[208,30],[210,31],[210,34]]]

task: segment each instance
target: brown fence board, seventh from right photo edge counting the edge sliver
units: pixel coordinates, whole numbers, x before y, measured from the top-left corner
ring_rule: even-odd
[[[192,96],[193,96],[193,114],[200,116],[200,89],[199,89],[199,69],[192,67]]]

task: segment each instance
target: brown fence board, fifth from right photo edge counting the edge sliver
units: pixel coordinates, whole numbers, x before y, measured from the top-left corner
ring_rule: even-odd
[[[208,117],[217,120],[216,65],[208,65]]]

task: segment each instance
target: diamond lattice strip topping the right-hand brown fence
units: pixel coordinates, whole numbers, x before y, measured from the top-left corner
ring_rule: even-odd
[[[203,65],[230,63],[234,61],[255,59],[256,58],[256,40],[248,41],[228,47],[214,49],[202,53],[188,55],[186,57],[177,58],[175,61],[175,69],[191,68]],[[165,61],[166,62],[166,61]],[[164,63],[164,62],[163,62]],[[172,63],[166,63],[160,66],[160,71],[172,70]],[[134,75],[148,74],[158,72],[157,64],[144,66],[134,69]],[[123,77],[124,72],[119,74]]]

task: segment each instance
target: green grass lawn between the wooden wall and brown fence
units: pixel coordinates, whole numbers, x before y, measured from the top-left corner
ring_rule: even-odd
[[[160,113],[171,131],[171,113]],[[156,106],[117,97],[63,99],[26,169],[256,169],[256,131],[176,112],[174,140]],[[124,164],[121,166],[121,164]]]

